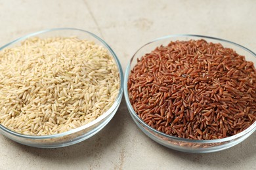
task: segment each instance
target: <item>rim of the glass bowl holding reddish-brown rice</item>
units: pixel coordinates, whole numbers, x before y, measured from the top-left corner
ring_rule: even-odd
[[[228,41],[228,40],[224,40],[224,39],[219,39],[216,37],[209,37],[209,36],[205,36],[205,35],[192,35],[192,34],[176,34],[176,35],[167,35],[164,37],[160,37],[158,39],[155,39],[153,41],[150,41],[146,44],[144,44],[143,46],[141,46],[136,52],[135,54],[133,54],[133,57],[130,59],[126,71],[125,71],[125,77],[124,77],[124,96],[125,96],[125,102],[127,104],[127,107],[129,109],[129,112],[131,114],[131,116],[133,116],[137,121],[139,121],[140,124],[142,124],[142,126],[144,126],[144,128],[148,128],[150,131],[153,131],[154,133],[161,135],[162,137],[166,137],[167,139],[171,139],[171,140],[176,140],[176,141],[182,141],[182,142],[187,142],[187,143],[223,143],[223,142],[228,142],[228,141],[232,141],[234,139],[238,139],[239,137],[244,136],[245,134],[249,133],[250,131],[255,131],[256,130],[256,121],[251,124],[251,126],[247,127],[247,129],[245,129],[244,131],[237,133],[236,135],[232,135],[230,137],[224,137],[223,139],[211,139],[211,140],[196,140],[196,139],[186,139],[186,138],[181,138],[181,137],[174,137],[171,135],[167,135],[161,131],[158,131],[157,129],[154,129],[151,126],[148,126],[148,124],[146,124],[139,116],[138,114],[135,112],[135,110],[133,109],[133,107],[131,106],[131,103],[129,101],[129,95],[128,95],[128,89],[127,89],[127,82],[128,82],[128,77],[129,77],[129,73],[131,71],[131,63],[133,61],[133,59],[135,58],[136,54],[145,46],[147,46],[148,44],[152,44],[154,42],[157,41],[162,41],[165,39],[170,39],[170,38],[178,38],[178,37],[191,37],[191,38],[202,38],[202,39],[209,39],[209,40],[215,40],[215,41],[219,41],[219,43],[221,42],[226,42],[229,44],[233,44],[234,46],[237,46],[238,48],[242,48],[243,50],[245,50],[246,52],[249,52],[252,56],[254,56],[256,58],[256,54],[249,50],[248,48],[237,44],[236,42],[232,42],[232,41]],[[179,39],[177,39],[179,40]],[[170,40],[171,41],[171,40]],[[216,42],[215,42],[216,43]],[[152,49],[153,50],[153,49]]]

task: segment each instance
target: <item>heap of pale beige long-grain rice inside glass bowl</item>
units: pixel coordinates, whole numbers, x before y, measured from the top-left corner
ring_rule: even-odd
[[[119,71],[108,51],[76,37],[31,38],[0,52],[0,124],[53,135],[110,109]]]

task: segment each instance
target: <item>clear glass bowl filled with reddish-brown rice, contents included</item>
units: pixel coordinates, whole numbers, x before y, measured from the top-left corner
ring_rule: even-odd
[[[192,53],[196,52],[196,50],[194,49],[199,49],[199,57],[196,56],[196,60],[194,58],[195,56],[187,55],[189,52],[188,46],[190,46],[190,44],[187,44],[187,42],[192,44],[192,47],[190,48],[192,50]],[[244,102],[244,99],[246,100],[250,98],[250,105],[253,105],[253,109],[250,110],[249,116],[244,119],[243,116],[245,114],[248,115],[249,107],[247,106],[246,102],[244,102],[243,104],[239,102],[237,103],[238,99],[232,99],[232,97],[234,96],[228,94],[229,92],[234,90],[232,88],[228,89],[228,86],[230,86],[230,84],[232,84],[233,82],[227,82],[228,86],[224,86],[224,84],[217,85],[221,86],[221,88],[218,88],[216,91],[214,88],[216,84],[207,84],[206,82],[204,88],[202,88],[200,91],[194,91],[199,92],[202,95],[204,94],[205,96],[202,96],[202,99],[200,98],[201,101],[199,98],[195,99],[195,97],[193,100],[194,103],[201,102],[202,107],[204,103],[203,100],[206,100],[205,103],[210,106],[211,102],[213,101],[216,101],[215,103],[217,103],[217,101],[229,103],[230,105],[228,104],[228,106],[230,107],[230,110],[228,110],[228,107],[225,107],[224,109],[218,109],[217,105],[213,105],[213,107],[215,107],[216,109],[209,106],[207,108],[203,107],[204,110],[193,108],[195,104],[192,104],[193,102],[190,101],[190,99],[193,99],[193,97],[188,97],[188,95],[190,94],[190,92],[192,92],[192,90],[197,90],[196,88],[198,88],[198,86],[196,86],[196,82],[199,82],[199,86],[201,86],[205,83],[205,81],[208,81],[208,77],[205,75],[215,75],[215,73],[210,73],[211,69],[221,69],[221,71],[228,69],[228,71],[230,71],[230,67],[228,67],[228,64],[226,64],[226,67],[224,64],[225,62],[232,63],[232,61],[228,61],[228,59],[222,61],[222,58],[220,58],[220,56],[218,56],[220,59],[219,61],[223,63],[219,63],[217,65],[217,63],[214,63],[213,60],[211,60],[214,58],[211,58],[211,62],[207,63],[208,60],[204,58],[203,55],[211,53],[212,50],[205,50],[203,48],[200,48],[200,46],[205,46],[205,42],[213,42],[215,44],[214,48],[216,46],[217,48],[224,47],[225,50],[228,50],[228,52],[231,51],[233,53],[235,51],[234,53],[237,52],[237,54],[239,54],[234,54],[235,56],[245,56],[246,61],[252,61],[247,62],[247,64],[238,64],[238,69],[241,69],[242,67],[251,67],[251,65],[253,64],[255,66],[256,54],[251,50],[245,48],[244,46],[241,46],[234,42],[213,37],[205,37],[201,35],[169,35],[156,39],[155,41],[148,42],[147,44],[139,48],[139,50],[137,50],[137,52],[134,54],[133,58],[131,58],[131,61],[127,66],[125,72],[125,101],[135,124],[137,124],[139,129],[141,129],[146,135],[148,135],[148,137],[150,137],[157,143],[182,152],[206,153],[224,150],[244,141],[256,130],[255,87],[253,87],[253,84],[251,85],[252,88],[247,87],[247,85],[243,85],[249,88],[247,89],[247,93],[250,93],[251,90],[253,90],[253,94],[251,94],[250,97],[241,97],[240,99],[241,102]],[[202,43],[203,45],[200,43]],[[166,46],[169,46],[170,48],[171,46],[173,47],[170,50],[166,49]],[[230,48],[234,51],[230,50]],[[166,52],[167,50],[170,51]],[[182,52],[182,50],[184,51],[184,53]],[[161,55],[163,55],[162,53],[165,55],[163,57],[165,61],[159,59],[161,58]],[[176,53],[176,56],[172,56],[172,53]],[[209,56],[212,57],[212,55]],[[225,55],[221,57],[226,58]],[[188,58],[192,59],[189,60]],[[199,60],[198,58],[202,59]],[[243,57],[241,58],[243,60]],[[186,63],[186,61],[188,62]],[[198,63],[194,63],[194,61]],[[200,61],[202,61],[202,64],[200,63]],[[190,63],[194,63],[196,65],[195,68],[204,67],[202,65],[205,65],[205,72],[202,74],[196,73],[196,69],[188,67]],[[209,67],[207,67],[207,65]],[[251,68],[250,71],[254,73],[253,80],[250,79],[251,77],[245,77],[245,79],[248,81],[251,80],[251,82],[254,81],[253,83],[255,84],[255,69],[253,71],[253,69]],[[173,70],[173,73],[172,71],[169,71],[169,73],[167,73],[168,69]],[[175,71],[177,70],[179,70],[181,73],[175,75]],[[161,76],[163,76],[163,78],[161,78]],[[202,77],[200,79],[196,78],[197,76]],[[220,75],[218,76],[221,77]],[[193,78],[196,80],[194,80]],[[212,80],[222,80],[221,78],[214,78],[215,77],[213,77]],[[184,84],[181,83],[183,79],[185,81]],[[181,86],[179,84],[175,84],[176,82],[181,83]],[[192,83],[188,84],[188,82]],[[238,85],[239,84],[240,82],[238,83]],[[177,88],[173,88],[172,86],[175,86]],[[226,90],[226,92],[224,92],[223,87],[226,87],[224,89]],[[190,88],[192,90],[190,90]],[[211,92],[207,93],[205,92],[205,89],[212,89],[213,92],[218,92],[218,94],[216,95],[217,99],[215,98],[216,96],[213,97],[213,95],[215,95],[214,93],[212,93],[213,95],[211,95]],[[176,93],[179,93],[180,90],[180,95],[175,95]],[[185,93],[183,94],[182,92]],[[196,95],[194,92],[193,95]],[[220,98],[220,96],[223,96],[223,93],[229,95],[228,98]],[[179,101],[179,99],[181,98],[182,100]],[[163,99],[163,101],[161,99]],[[236,100],[236,106],[234,106],[234,100]],[[178,106],[181,107],[177,108]],[[233,114],[234,110],[240,110],[239,107],[245,107],[245,112],[236,113],[236,117],[232,116],[231,114]],[[174,109],[171,110],[169,108]],[[213,115],[213,112],[217,115],[217,118],[213,118],[213,116],[211,116]],[[221,116],[223,116],[223,120],[219,119]],[[217,120],[221,120],[221,123]],[[245,120],[251,121],[246,124]],[[211,124],[209,122],[211,122]],[[243,127],[240,126],[241,128],[238,129],[238,123]],[[230,131],[230,129],[232,129],[233,131]],[[215,131],[218,132],[214,133]]]

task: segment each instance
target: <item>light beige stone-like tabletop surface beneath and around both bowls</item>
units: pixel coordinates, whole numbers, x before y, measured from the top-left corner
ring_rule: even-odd
[[[0,1],[0,46],[53,27],[76,27],[102,37],[123,71],[135,51],[169,34],[219,37],[256,51],[256,1]],[[187,154],[155,143],[121,102],[100,133],[57,149],[23,146],[0,135],[0,169],[255,169],[256,133],[228,150]]]

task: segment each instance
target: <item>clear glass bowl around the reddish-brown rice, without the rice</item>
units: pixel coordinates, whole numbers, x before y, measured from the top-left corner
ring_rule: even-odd
[[[150,137],[157,143],[160,143],[163,146],[172,148],[174,150],[179,150],[182,152],[191,152],[191,153],[217,152],[219,150],[230,148],[244,141],[247,137],[249,137],[249,135],[251,135],[256,130],[256,122],[254,122],[251,126],[249,126],[247,129],[245,129],[241,133],[238,133],[236,135],[233,135],[231,137],[226,137],[223,139],[214,139],[214,140],[184,139],[179,137],[173,137],[171,135],[166,135],[165,133],[157,131],[153,127],[148,126],[148,124],[146,124],[145,122],[143,122],[141,118],[139,118],[139,116],[137,115],[137,113],[135,112],[135,110],[133,109],[129,101],[127,82],[128,82],[129,74],[131,73],[131,69],[133,69],[133,67],[137,63],[137,58],[140,59],[142,56],[144,56],[144,54],[151,52],[161,44],[167,45],[171,41],[177,41],[177,40],[188,41],[190,39],[194,39],[194,40],[205,39],[207,42],[221,43],[223,44],[224,47],[233,48],[234,50],[236,50],[238,54],[245,56],[245,59],[247,61],[253,61],[254,65],[256,63],[256,54],[254,52],[234,42],[226,41],[223,39],[217,39],[213,37],[205,37],[201,35],[169,35],[166,37],[161,37],[159,39],[156,39],[155,41],[148,42],[147,44],[139,48],[139,50],[137,50],[137,52],[135,52],[135,54],[133,55],[133,58],[131,58],[131,61],[127,66],[127,69],[125,72],[125,80],[124,80],[125,101],[127,103],[128,110],[135,124],[137,124],[137,126],[146,135],[148,135],[148,137]]]

